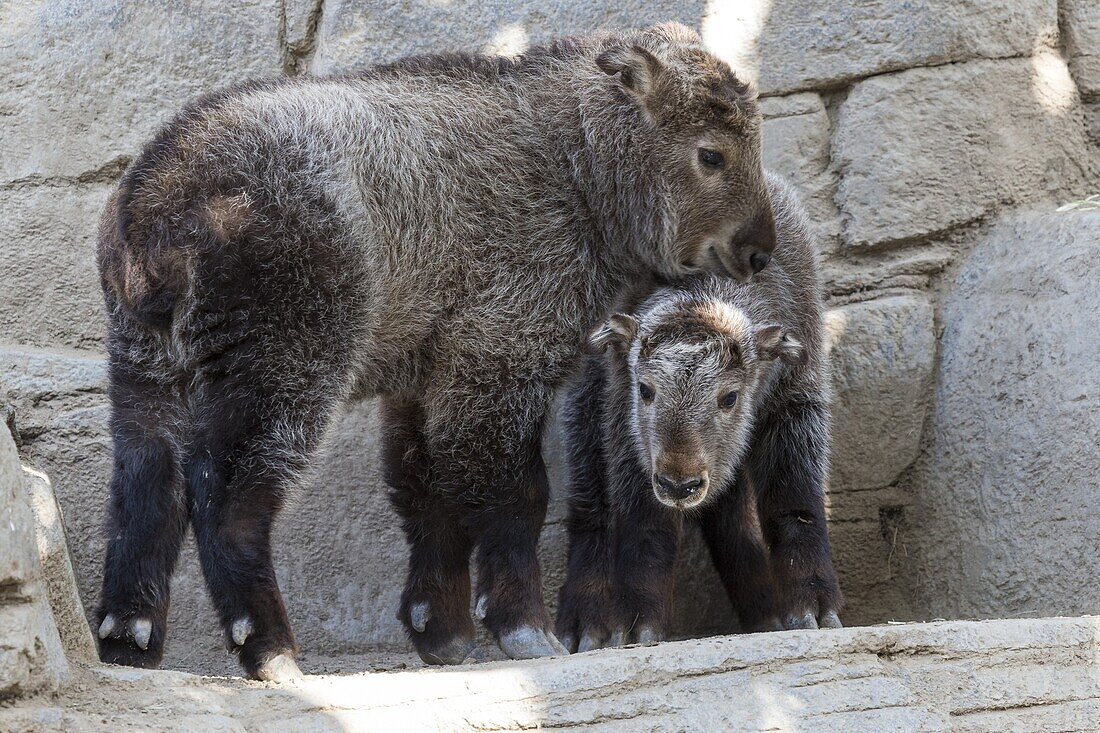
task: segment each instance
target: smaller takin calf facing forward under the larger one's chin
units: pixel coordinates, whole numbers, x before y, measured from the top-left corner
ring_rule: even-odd
[[[588,337],[565,412],[571,652],[666,636],[685,517],[744,628],[840,626],[822,287],[801,206],[768,183],[772,265],[658,287]]]

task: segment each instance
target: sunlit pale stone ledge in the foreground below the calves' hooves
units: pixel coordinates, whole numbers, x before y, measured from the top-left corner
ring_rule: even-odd
[[[81,670],[0,727],[87,731],[1048,733],[1100,722],[1100,621],[782,632],[274,686]]]

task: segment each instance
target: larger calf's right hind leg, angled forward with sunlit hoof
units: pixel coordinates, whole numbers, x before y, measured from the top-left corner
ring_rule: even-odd
[[[202,576],[245,671],[278,681],[300,675],[297,645],[272,564],[272,528],[299,482],[334,406],[331,391],[307,400],[265,389],[244,369],[198,390],[196,435],[185,458]]]

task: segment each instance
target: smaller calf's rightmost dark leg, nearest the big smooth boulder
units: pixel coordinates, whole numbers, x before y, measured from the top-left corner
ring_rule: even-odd
[[[803,397],[759,420],[749,475],[771,549],[780,621],[787,628],[838,627],[843,600],[825,523],[828,409]]]

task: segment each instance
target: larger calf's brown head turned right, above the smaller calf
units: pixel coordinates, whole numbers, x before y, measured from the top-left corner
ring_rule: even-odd
[[[768,264],[776,222],[760,160],[756,91],[694,31],[658,25],[596,58],[638,107],[656,140],[652,164],[671,201],[681,275],[748,280]]]

